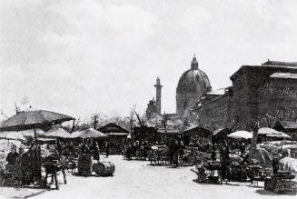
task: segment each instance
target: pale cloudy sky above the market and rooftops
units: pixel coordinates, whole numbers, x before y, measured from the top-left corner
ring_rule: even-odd
[[[297,61],[295,0],[3,0],[0,109],[15,102],[86,117],[144,112],[163,84],[163,111],[193,54],[213,88],[241,65]]]

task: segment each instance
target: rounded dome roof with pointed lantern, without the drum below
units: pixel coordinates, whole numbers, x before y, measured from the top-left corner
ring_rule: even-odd
[[[184,72],[178,82],[176,94],[192,93],[200,96],[211,90],[212,86],[208,76],[198,68],[198,62],[194,56],[191,63],[191,69]]]

